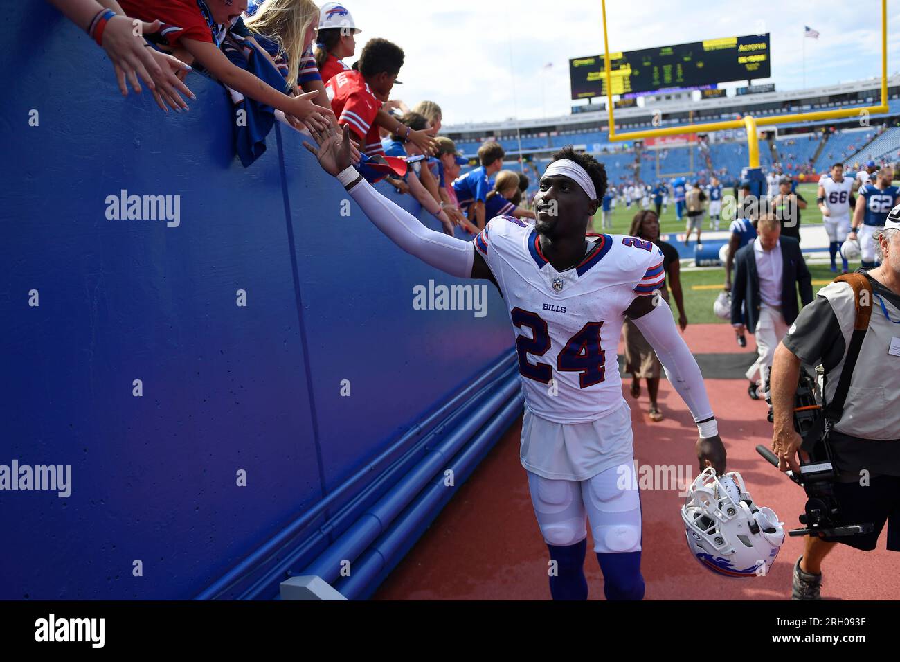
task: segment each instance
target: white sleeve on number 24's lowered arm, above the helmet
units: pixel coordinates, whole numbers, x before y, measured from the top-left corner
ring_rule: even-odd
[[[716,420],[707,422],[707,419],[713,418],[713,408],[709,406],[707,387],[703,384],[697,360],[679,335],[669,304],[660,296],[656,297],[656,301],[658,305],[653,306],[653,311],[632,322],[644,334],[666,368],[671,385],[688,405],[694,422],[698,423],[700,436],[715,437],[718,433]],[[704,422],[702,425],[701,421]]]

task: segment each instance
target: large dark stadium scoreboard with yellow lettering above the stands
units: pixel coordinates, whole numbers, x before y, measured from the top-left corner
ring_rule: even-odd
[[[612,94],[696,89],[771,76],[769,33],[609,54]],[[607,94],[603,56],[569,60],[572,99]]]

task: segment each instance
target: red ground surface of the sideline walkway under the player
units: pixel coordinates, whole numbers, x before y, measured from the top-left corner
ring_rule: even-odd
[[[695,353],[755,351],[752,336],[747,339],[748,347],[739,348],[734,333],[721,324],[696,324],[685,333]],[[733,379],[707,379],[706,384],[728,449],[729,469],[741,472],[754,501],[778,513],[786,529],[798,528],[797,515],[806,503],[803,490],[754,450],[757,444],[771,443],[765,401],[750,399],[741,374]],[[630,378],[624,379],[623,390],[631,407],[639,466],[689,465],[689,480],[693,479],[698,473],[693,456],[697,428],[678,394],[662,380],[659,403],[666,418],[654,423],[646,415],[646,388],[635,401],[627,393],[628,385]],[[375,599],[550,599],[548,553],[537,528],[525,469],[518,461],[520,426],[521,420],[462,485]],[[684,500],[677,487],[642,490],[641,500],[646,599],[790,599],[791,573],[802,553],[802,538],[785,540],[769,576],[729,579],[704,569],[689,554],[680,517]],[[602,600],[603,576],[592,545],[588,549],[584,568],[590,599]],[[884,531],[878,549],[872,552],[838,545],[825,559],[823,569],[826,600],[890,600],[900,594],[896,555],[885,548]]]

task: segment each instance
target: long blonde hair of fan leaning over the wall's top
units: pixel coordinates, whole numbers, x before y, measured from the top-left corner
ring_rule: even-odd
[[[312,0],[266,0],[256,14],[244,19],[252,32],[278,41],[278,55],[287,62],[289,91],[297,85],[303,41],[313,22],[319,25],[319,7]]]

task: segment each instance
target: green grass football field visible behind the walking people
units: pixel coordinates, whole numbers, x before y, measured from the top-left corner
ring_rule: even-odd
[[[806,203],[809,205],[809,207],[804,210],[804,213],[812,216],[812,218],[810,218],[810,221],[815,218],[815,222],[819,222],[821,217],[815,210],[816,189],[817,185],[815,184],[801,184],[797,186],[797,190],[800,192],[800,195],[803,195],[804,199],[806,199]],[[725,191],[725,193],[728,193],[727,190]],[[631,209],[626,209],[625,204],[619,202],[616,206],[616,209],[613,210],[612,233],[627,234],[631,229],[631,221],[634,218],[635,213],[638,213],[639,211],[641,211],[641,207],[639,204],[632,204]],[[729,222],[731,222],[731,219],[723,219],[719,225],[719,229],[727,230]],[[707,215],[707,217],[704,219],[703,229],[706,231],[708,227],[709,218]],[[596,231],[599,231],[600,213],[597,213],[597,215],[594,217],[594,228]],[[670,203],[668,211],[662,213],[660,231],[665,234],[667,232],[683,232],[684,229],[684,222],[680,222],[675,217],[675,204]],[[691,243],[693,243],[693,241]],[[859,266],[859,262],[851,262],[851,271],[855,268],[858,268]],[[830,283],[833,280],[833,277],[836,276],[836,274],[834,274],[830,270],[828,265],[809,265],[809,271],[813,276],[814,293],[820,287],[826,285],[827,283]],[[713,314],[713,302],[716,301],[716,295],[718,295],[719,292],[722,291],[722,286],[724,283],[725,269],[721,267],[701,268],[696,270],[689,269],[687,271],[681,272],[681,290],[684,293],[684,307],[685,313],[687,313],[688,315],[689,323],[727,323],[726,320],[722,320],[716,317],[715,314]],[[674,299],[671,300],[671,304],[674,310]]]

